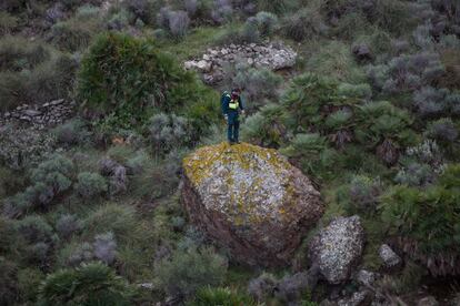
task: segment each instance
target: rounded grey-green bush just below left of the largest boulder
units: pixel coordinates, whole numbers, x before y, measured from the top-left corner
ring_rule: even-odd
[[[156,265],[158,285],[172,296],[187,297],[199,288],[218,286],[227,272],[227,262],[211,248],[177,251],[170,261]]]

